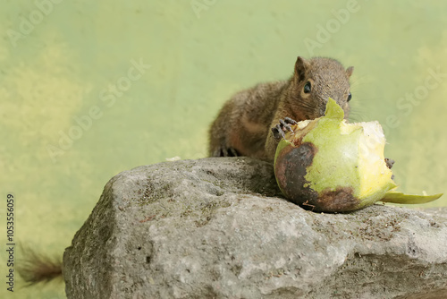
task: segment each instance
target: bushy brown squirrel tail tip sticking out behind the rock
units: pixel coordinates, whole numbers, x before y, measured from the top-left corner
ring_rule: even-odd
[[[50,258],[26,247],[22,247],[22,256],[17,271],[21,278],[28,283],[28,286],[41,281],[48,282],[54,278],[62,278],[62,259]]]

